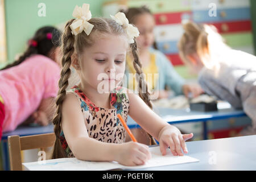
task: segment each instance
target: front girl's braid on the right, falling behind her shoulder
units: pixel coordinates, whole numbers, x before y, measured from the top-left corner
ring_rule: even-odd
[[[141,62],[139,61],[138,48],[137,48],[136,41],[134,40],[134,43],[131,44],[130,46],[131,46],[131,52],[132,52],[133,58],[134,58],[133,66],[134,66],[134,69],[136,70],[136,73],[138,73],[138,75],[139,75],[139,78],[137,77],[137,81],[139,84],[139,97],[141,97],[142,100],[152,109],[152,103],[149,100],[150,93],[148,92],[147,82],[142,75],[143,74],[142,68],[141,68],[142,65],[141,65]],[[142,92],[143,86],[146,86],[146,93]],[[148,136],[150,137],[150,145],[156,144],[155,139],[150,134],[148,134]]]

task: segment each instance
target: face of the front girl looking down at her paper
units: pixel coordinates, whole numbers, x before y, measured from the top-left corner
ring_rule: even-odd
[[[101,93],[102,89],[104,92],[112,90],[125,73],[127,48],[125,36],[107,34],[95,37],[94,44],[86,47],[79,56],[78,71],[82,84]]]

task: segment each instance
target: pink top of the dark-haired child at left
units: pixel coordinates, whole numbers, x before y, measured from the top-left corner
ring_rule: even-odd
[[[43,55],[32,55],[23,63],[0,71],[0,95],[5,105],[3,132],[13,131],[44,98],[56,97],[60,67]]]

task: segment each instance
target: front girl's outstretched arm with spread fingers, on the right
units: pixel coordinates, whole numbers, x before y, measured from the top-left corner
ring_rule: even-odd
[[[128,95],[130,117],[146,130],[147,133],[159,141],[160,150],[163,155],[166,154],[168,147],[170,147],[173,155],[183,155],[181,148],[187,153],[185,140],[192,138],[193,134],[181,135],[175,126],[163,121],[137,94],[128,93]]]

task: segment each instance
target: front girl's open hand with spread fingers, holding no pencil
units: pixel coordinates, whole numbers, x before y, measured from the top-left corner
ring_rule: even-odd
[[[170,147],[172,155],[176,156],[183,156],[181,151],[184,151],[185,154],[188,153],[187,146],[185,141],[192,138],[193,134],[184,134],[182,135],[175,126],[165,126],[159,133],[159,145],[160,151],[162,155],[166,155],[166,149]]]

